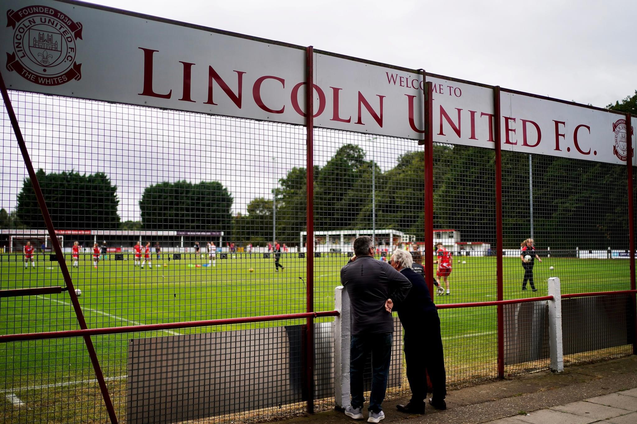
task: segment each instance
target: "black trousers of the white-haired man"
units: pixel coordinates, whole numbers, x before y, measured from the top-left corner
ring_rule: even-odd
[[[422,329],[427,328],[425,333]],[[440,336],[440,318],[436,311],[427,313],[424,320],[404,329],[404,359],[407,380],[412,389],[413,404],[422,404],[427,398],[427,374],[431,380],[433,399],[447,396],[447,374]]]

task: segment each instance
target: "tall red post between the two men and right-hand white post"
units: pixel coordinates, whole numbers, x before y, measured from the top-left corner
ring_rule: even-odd
[[[503,294],[503,265],[502,265],[502,149],[501,137],[501,111],[500,111],[500,87],[493,88],[494,106],[494,138],[496,142],[496,266],[497,266],[497,300],[504,300]],[[505,378],[505,321],[503,317],[503,305],[497,305],[497,376]]]

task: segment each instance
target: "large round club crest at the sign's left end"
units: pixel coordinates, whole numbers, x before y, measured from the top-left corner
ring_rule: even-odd
[[[13,53],[6,53],[6,69],[32,83],[61,85],[82,78],[75,62],[76,41],[82,24],[48,6],[8,10],[7,27],[13,28]]]

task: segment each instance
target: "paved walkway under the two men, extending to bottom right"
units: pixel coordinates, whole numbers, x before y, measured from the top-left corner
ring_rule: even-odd
[[[383,403],[385,420],[410,424],[637,424],[637,356],[569,366],[563,373],[526,374],[479,386],[450,390],[446,411],[427,406],[426,414],[399,413],[396,404]],[[368,412],[365,410],[366,423]],[[288,420],[288,423],[354,424],[340,411],[325,411]]]

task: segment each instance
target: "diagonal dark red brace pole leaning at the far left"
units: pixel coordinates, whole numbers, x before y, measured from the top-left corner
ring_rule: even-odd
[[[78,323],[80,324],[80,328],[85,330],[87,329],[86,321],[84,320],[84,315],[82,313],[82,308],[80,307],[80,301],[78,301],[78,297],[75,294],[75,288],[73,287],[73,281],[71,280],[71,274],[69,274],[69,269],[66,267],[66,262],[64,262],[64,255],[62,254],[62,248],[60,247],[60,243],[55,236],[55,228],[53,226],[53,221],[51,221],[51,216],[48,214],[47,203],[45,202],[44,196],[42,195],[42,189],[39,186],[38,177],[36,176],[36,172],[33,170],[33,164],[31,163],[31,158],[29,157],[29,150],[27,149],[27,145],[24,142],[24,137],[22,137],[22,131],[20,131],[20,125],[18,125],[18,118],[15,116],[15,111],[13,111],[13,106],[11,105],[11,99],[9,98],[9,93],[6,91],[6,85],[4,85],[4,78],[0,73],[0,91],[2,92],[2,97],[4,100],[4,106],[6,107],[6,111],[9,114],[9,119],[11,120],[11,127],[13,127],[13,133],[15,133],[15,138],[18,140],[18,146],[20,146],[20,152],[22,153],[22,158],[24,158],[24,165],[27,167],[27,171],[29,172],[29,177],[31,178],[31,185],[33,186],[33,191],[36,193],[36,197],[38,198],[38,205],[40,210],[42,211],[42,217],[44,218],[44,222],[47,225],[48,236],[51,239],[51,244],[55,250],[55,256],[57,256],[57,263],[60,265],[60,270],[62,271],[62,275],[64,276],[64,282],[66,283],[66,287],[69,291],[69,296],[71,296],[71,303],[73,304],[73,309],[75,310],[75,315],[78,318]],[[106,387],[106,381],[104,381],[104,374],[102,373],[101,368],[99,367],[99,361],[97,360],[97,354],[95,353],[95,348],[93,346],[93,341],[90,339],[90,336],[84,336],[84,343],[86,344],[86,348],[89,352],[90,362],[93,364],[93,369],[95,370],[95,375],[97,381],[99,383],[99,389],[102,392],[102,397],[104,398],[104,404],[106,405],[106,410],[108,411],[108,416],[111,419],[111,423],[117,424],[117,415],[115,414],[115,409],[113,408],[113,403],[111,402],[111,398],[108,395],[108,388]]]

